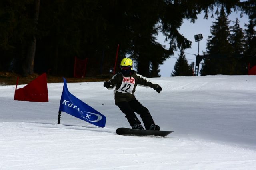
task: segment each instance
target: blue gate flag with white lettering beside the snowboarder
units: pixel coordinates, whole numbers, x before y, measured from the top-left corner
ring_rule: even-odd
[[[105,127],[106,116],[71,94],[68,91],[66,79],[63,78],[63,80],[64,85],[60,99],[59,111],[66,112],[67,114],[75,116],[98,127]]]

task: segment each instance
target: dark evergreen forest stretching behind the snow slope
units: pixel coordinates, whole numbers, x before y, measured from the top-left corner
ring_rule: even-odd
[[[239,19],[228,26],[233,11],[249,16],[246,30]],[[182,53],[192,42],[179,28],[200,13],[218,16],[201,75],[246,74],[248,63],[256,65],[256,0],[1,0],[0,71],[72,77],[77,57],[87,61],[86,76],[110,74],[118,52],[117,63],[130,57],[138,74],[159,77],[159,66],[179,50],[182,75],[192,76]]]

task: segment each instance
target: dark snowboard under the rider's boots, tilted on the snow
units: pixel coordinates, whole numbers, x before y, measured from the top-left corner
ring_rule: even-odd
[[[172,132],[174,132],[174,131],[138,130],[138,129],[131,129],[131,128],[116,129],[116,133],[119,135],[136,135],[136,136],[154,135],[154,136],[165,137]]]

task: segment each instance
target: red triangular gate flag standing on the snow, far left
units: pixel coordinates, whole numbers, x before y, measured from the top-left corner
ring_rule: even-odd
[[[48,89],[46,73],[38,76],[35,80],[27,84],[23,88],[16,89],[14,100],[29,101],[29,102],[48,102]]]

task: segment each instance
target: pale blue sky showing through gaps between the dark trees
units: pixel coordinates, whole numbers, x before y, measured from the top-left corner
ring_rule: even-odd
[[[210,15],[209,15],[210,16]],[[195,42],[194,35],[196,34],[202,34],[203,39],[200,41],[200,49],[199,54],[202,55],[202,51],[206,51],[206,43],[208,36],[210,35],[210,26],[212,26],[212,22],[216,21],[216,17],[214,18],[208,18],[208,20],[204,19],[204,14],[198,15],[198,19],[195,23],[190,23],[187,20],[184,20],[184,23],[182,24],[180,28],[180,33],[183,34],[188,40],[192,41],[192,46],[190,49],[186,49],[186,53],[190,54],[197,54],[198,53],[198,42]],[[240,18],[240,12],[233,12],[228,16],[228,19],[231,21],[235,21],[236,18],[240,20],[240,27],[245,28],[244,24],[248,24],[248,16],[246,14],[243,15],[242,18]],[[234,25],[234,23],[230,22],[230,25]],[[169,47],[168,42],[164,42],[164,37],[162,35],[158,36],[158,42],[161,44],[166,45],[166,48]],[[174,52],[174,56],[171,56],[166,62],[164,62],[163,65],[160,66],[160,75],[161,77],[170,77],[172,70],[174,69],[175,62],[177,60],[178,54],[180,52]],[[185,54],[186,58],[188,59],[188,63],[196,62],[196,56]],[[190,60],[192,59],[192,60]],[[201,65],[200,68],[201,69]]]

